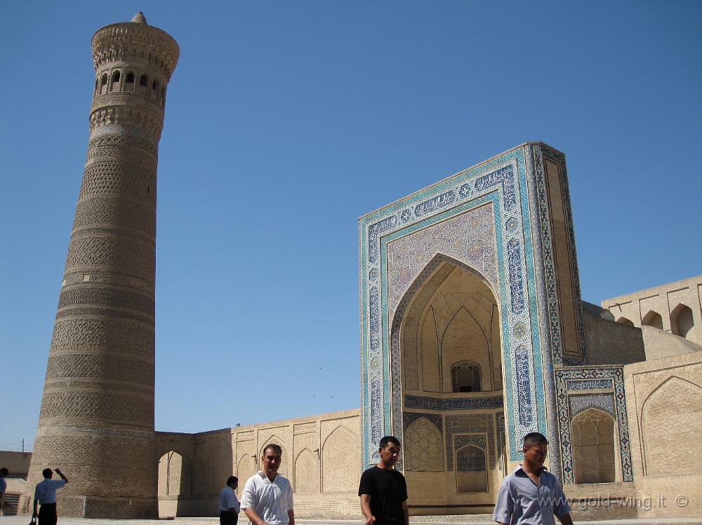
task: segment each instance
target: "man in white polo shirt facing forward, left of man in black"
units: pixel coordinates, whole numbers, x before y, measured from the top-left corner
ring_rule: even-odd
[[[263,449],[263,470],[251,476],[241,493],[241,508],[252,525],[295,525],[293,488],[278,474],[282,449],[271,443]]]

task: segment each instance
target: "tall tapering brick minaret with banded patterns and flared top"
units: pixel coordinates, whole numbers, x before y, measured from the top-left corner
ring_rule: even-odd
[[[88,154],[21,505],[59,467],[60,515],[156,517],[156,171],[179,50],[138,13],[98,29],[92,52]]]

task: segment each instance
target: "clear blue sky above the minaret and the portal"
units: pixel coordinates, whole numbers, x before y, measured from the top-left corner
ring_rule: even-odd
[[[93,88],[180,44],[159,154],[158,430],[359,407],[357,217],[526,140],[567,155],[583,299],[701,272],[698,1],[0,6],[0,449],[31,448]]]

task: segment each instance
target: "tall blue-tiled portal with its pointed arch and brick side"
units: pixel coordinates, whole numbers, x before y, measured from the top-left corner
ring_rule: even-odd
[[[456,482],[458,463],[484,451],[492,491],[538,431],[561,478],[554,365],[584,363],[564,156],[522,144],[361,217],[359,233],[364,465],[383,435],[409,438],[406,475],[442,475],[437,504],[459,504],[482,482]],[[432,428],[442,457],[412,457]]]

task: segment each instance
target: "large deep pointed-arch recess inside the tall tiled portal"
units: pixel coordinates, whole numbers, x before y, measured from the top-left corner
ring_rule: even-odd
[[[404,470],[411,491],[423,498],[423,503],[470,505],[477,503],[475,498],[484,502],[485,496],[477,494],[493,493],[501,480],[495,418],[496,413],[503,414],[498,305],[496,294],[479,271],[437,254],[395,311],[392,355],[399,357],[402,372],[398,383],[403,414],[411,418],[403,430]],[[455,372],[463,367],[470,371],[470,384],[464,386],[475,388],[456,392],[462,389],[454,388],[461,383],[456,381]],[[432,412],[422,421],[417,416],[425,409]],[[477,447],[484,465],[479,474],[459,470],[458,451],[449,448],[458,434],[474,432],[485,436],[482,448]],[[429,442],[436,443],[431,452]],[[460,457],[476,454],[474,449],[465,449]],[[461,465],[479,464],[466,461],[461,459]]]

